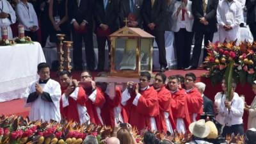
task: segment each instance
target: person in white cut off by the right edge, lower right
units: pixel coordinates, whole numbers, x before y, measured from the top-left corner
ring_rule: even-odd
[[[254,95],[256,95],[256,81],[253,81],[252,91]],[[251,106],[248,106],[246,102],[244,102],[244,104],[244,110],[249,113],[247,127],[248,129],[256,128],[256,96],[254,97]]]

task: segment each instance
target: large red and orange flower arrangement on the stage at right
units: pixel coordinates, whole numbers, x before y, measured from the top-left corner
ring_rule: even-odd
[[[241,42],[216,42],[209,44],[208,56],[204,65],[209,68],[209,73],[205,77],[211,78],[213,84],[221,82],[228,65],[232,63],[232,79],[245,84],[253,83],[256,70],[256,43]],[[226,74],[227,75],[227,74]]]

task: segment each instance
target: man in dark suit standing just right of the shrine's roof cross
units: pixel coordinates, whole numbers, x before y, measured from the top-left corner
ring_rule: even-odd
[[[166,0],[145,0],[142,4],[143,28],[156,37],[159,50],[160,71],[167,67],[164,31],[166,30]]]

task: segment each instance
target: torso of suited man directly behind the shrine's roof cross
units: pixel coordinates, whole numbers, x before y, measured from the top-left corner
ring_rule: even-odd
[[[141,16],[141,6],[143,0],[120,0],[120,26],[125,26],[125,19],[129,20],[129,27],[139,27],[142,26],[142,16]]]

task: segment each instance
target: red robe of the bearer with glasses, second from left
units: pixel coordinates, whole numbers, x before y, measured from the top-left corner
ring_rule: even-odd
[[[90,99],[87,100],[86,108],[87,108],[87,113],[90,116],[90,122],[96,125],[102,125],[102,122],[100,122],[100,118],[97,113],[97,107],[102,108],[105,102],[105,97],[104,97],[104,93],[100,88],[96,88],[96,90],[97,90],[97,95],[96,95],[95,102],[92,102],[92,100]],[[87,95],[89,97],[90,94],[92,94],[92,91],[87,90],[86,93],[88,93]]]

